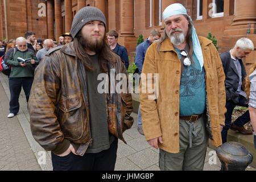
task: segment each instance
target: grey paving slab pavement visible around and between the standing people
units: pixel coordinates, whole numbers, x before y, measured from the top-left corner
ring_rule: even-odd
[[[0,170],[51,171],[51,155],[32,137],[27,102],[24,92],[20,93],[20,111],[13,118],[9,114],[10,91],[7,76],[0,73]],[[137,114],[132,113],[134,124],[123,134],[127,144],[118,140],[115,171],[159,171],[159,150],[148,145],[137,131]],[[216,151],[207,148],[204,171],[219,171],[220,160]],[[246,170],[255,171],[252,167]]]

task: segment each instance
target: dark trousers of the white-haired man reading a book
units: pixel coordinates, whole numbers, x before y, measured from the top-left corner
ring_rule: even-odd
[[[23,88],[26,100],[30,97],[30,90],[33,83],[33,77],[18,77],[18,78],[9,78],[9,89],[10,89],[10,113],[17,114],[19,112],[19,94]]]

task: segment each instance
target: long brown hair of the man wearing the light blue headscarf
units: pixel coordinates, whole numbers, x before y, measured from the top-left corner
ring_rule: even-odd
[[[193,43],[192,43],[192,23],[188,17],[188,15],[183,15],[185,18],[187,18],[188,20],[188,33],[187,33],[187,36],[186,36],[186,42],[188,43],[188,46],[189,46],[189,52],[188,52],[188,55],[189,57],[191,58],[191,61],[192,60],[192,55],[193,55]],[[158,46],[157,46],[157,49],[158,51],[160,51],[160,46],[161,44],[164,42],[164,40],[166,39],[169,39],[168,35],[167,35],[167,32],[166,32],[166,27],[164,27],[164,31],[163,31],[163,36],[160,38],[160,40],[158,41]]]

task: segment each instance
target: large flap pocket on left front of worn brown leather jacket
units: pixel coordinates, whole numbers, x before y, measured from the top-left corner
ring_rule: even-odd
[[[76,97],[61,97],[57,114],[61,131],[66,139],[78,140],[83,134],[81,100]]]

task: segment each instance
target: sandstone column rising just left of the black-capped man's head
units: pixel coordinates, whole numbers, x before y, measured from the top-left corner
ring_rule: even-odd
[[[55,9],[55,39],[58,40],[59,37],[64,33],[63,32],[63,22],[61,18],[61,0],[54,1]]]

